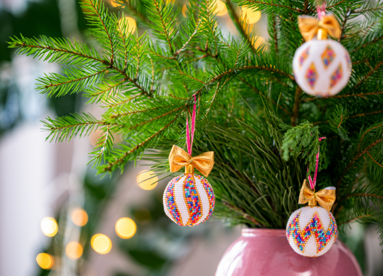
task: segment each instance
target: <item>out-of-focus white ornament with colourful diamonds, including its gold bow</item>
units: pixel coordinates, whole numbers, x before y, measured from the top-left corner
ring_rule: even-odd
[[[320,9],[319,9],[320,10]],[[328,34],[339,39],[340,26],[334,15],[318,12],[317,20],[299,16],[299,30],[305,39],[294,54],[292,68],[299,87],[306,93],[327,97],[339,93],[351,76],[351,59],[348,51]]]

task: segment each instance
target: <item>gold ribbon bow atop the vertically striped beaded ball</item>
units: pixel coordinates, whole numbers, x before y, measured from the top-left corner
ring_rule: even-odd
[[[192,173],[192,168],[196,168],[202,175],[207,177],[214,166],[214,151],[204,152],[192,157],[182,148],[173,145],[169,154],[169,164],[172,173],[177,172],[182,167],[186,167],[186,173]],[[192,168],[189,165],[192,165]]]

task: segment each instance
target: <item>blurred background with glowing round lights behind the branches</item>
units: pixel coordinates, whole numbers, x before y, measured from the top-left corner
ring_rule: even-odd
[[[172,1],[185,13],[187,0]],[[105,4],[124,11],[129,31],[144,32],[144,13]],[[260,45],[268,38],[266,16],[242,11]],[[16,56],[6,41],[21,33],[91,43],[83,12],[77,0],[0,0],[0,276],[213,276],[240,227],[214,217],[199,227],[174,224],[162,206],[169,179],[142,182],[151,174],[144,161],[128,164],[122,175],[95,176],[87,162],[97,132],[69,143],[45,141],[45,117],[75,111],[97,117],[100,107],[85,105],[81,94],[47,99],[34,91],[37,78],[60,67]],[[219,0],[216,13],[223,34],[238,36]],[[351,224],[340,239],[366,276],[383,275],[375,225]]]

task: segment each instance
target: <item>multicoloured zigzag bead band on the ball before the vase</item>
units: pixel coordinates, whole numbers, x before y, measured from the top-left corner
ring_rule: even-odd
[[[311,221],[306,225],[303,230],[299,230],[299,215],[296,214],[290,225],[286,230],[287,238],[292,235],[295,244],[299,250],[304,253],[306,242],[311,235],[315,236],[317,244],[317,254],[322,251],[330,241],[330,239],[337,235],[337,228],[334,217],[331,215],[331,223],[327,230],[324,229],[321,219],[317,212],[314,213]]]

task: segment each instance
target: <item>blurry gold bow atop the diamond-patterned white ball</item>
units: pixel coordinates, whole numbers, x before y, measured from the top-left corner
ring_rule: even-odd
[[[312,16],[299,16],[298,27],[305,41],[312,40],[319,31],[322,39],[327,38],[327,33],[336,39],[341,36],[339,23],[333,14],[323,16],[321,20]]]

